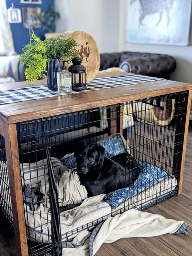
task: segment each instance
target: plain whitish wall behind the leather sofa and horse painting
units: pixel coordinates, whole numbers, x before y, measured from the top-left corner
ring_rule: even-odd
[[[84,30],[98,43],[100,52],[153,52],[173,56],[177,68],[170,79],[192,83],[192,46],[131,44],[125,41],[126,0],[55,0],[61,18],[57,32]]]

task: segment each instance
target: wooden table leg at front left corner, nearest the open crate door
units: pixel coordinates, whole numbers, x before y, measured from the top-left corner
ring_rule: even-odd
[[[13,223],[15,230],[17,255],[28,256],[25,215],[20,175],[20,162],[15,124],[4,123],[4,139],[11,191]]]

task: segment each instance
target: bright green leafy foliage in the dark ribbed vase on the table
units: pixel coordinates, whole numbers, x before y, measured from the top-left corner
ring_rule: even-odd
[[[38,78],[41,78],[41,74],[46,72],[47,62],[53,58],[70,62],[72,58],[80,55],[75,48],[78,44],[74,39],[62,39],[61,37],[62,35],[41,41],[32,30],[32,43],[25,45],[20,55],[20,63],[28,67],[25,69],[28,84],[32,85]]]

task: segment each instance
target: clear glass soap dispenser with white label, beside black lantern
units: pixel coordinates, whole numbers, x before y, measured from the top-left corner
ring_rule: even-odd
[[[62,70],[57,72],[57,90],[59,93],[70,93],[72,92],[72,74],[67,71],[65,62],[62,61]]]

